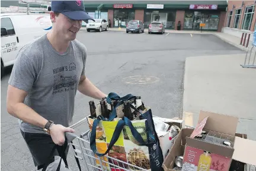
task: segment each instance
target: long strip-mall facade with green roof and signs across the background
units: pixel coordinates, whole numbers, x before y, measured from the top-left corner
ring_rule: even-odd
[[[97,2],[97,3],[96,3]],[[111,27],[126,27],[136,19],[145,28],[152,21],[164,22],[166,29],[221,31],[227,1],[84,1],[85,11],[92,18],[109,19]],[[203,27],[200,27],[203,24]],[[202,26],[202,25],[201,25]]]

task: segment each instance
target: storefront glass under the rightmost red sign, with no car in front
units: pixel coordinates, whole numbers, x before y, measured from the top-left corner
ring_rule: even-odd
[[[184,29],[199,30],[200,24],[205,24],[204,30],[217,30],[219,14],[208,11],[186,11],[184,17]]]

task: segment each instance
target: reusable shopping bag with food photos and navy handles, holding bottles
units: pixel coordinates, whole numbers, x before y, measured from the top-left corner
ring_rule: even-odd
[[[124,100],[134,97],[132,94],[119,97],[115,93],[110,93],[107,97],[108,103],[113,99],[119,100],[110,117],[108,119],[102,116],[98,116],[97,119],[87,117],[91,130],[91,149],[95,156],[101,157],[103,160],[102,165],[99,160],[96,161],[98,167],[103,166],[105,170],[114,170],[115,166],[108,165],[104,163],[105,161],[127,170],[139,170],[139,168],[153,171],[162,170],[164,159],[153,124],[151,109],[140,113],[140,120],[130,121],[127,117],[117,118],[117,111],[122,109]],[[131,107],[139,112],[136,107]],[[106,156],[117,160],[111,160]]]

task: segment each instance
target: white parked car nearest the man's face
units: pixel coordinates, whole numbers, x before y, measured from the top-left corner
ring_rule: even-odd
[[[91,30],[94,31],[102,31],[103,29],[105,31],[108,31],[108,22],[105,19],[94,19],[95,21],[92,21],[91,19],[88,21],[87,24],[87,31],[90,32]]]

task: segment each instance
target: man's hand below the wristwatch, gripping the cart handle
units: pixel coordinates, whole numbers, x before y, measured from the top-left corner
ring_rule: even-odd
[[[74,133],[75,130],[64,127],[61,124],[52,124],[50,126],[50,136],[55,144],[62,146],[65,143],[65,132]]]

